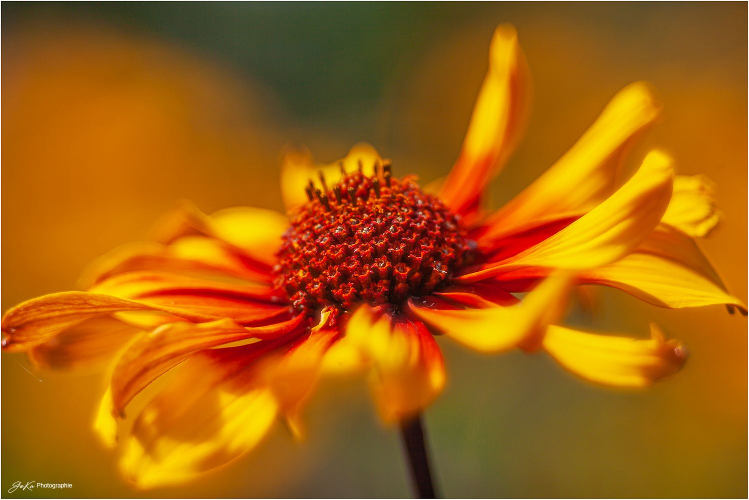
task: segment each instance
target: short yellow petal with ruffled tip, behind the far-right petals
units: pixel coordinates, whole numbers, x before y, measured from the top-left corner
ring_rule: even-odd
[[[673,196],[662,222],[695,238],[709,235],[721,222],[715,208],[715,184],[704,175],[676,175]]]

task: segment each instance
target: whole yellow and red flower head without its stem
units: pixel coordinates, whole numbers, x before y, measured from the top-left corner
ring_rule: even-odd
[[[369,145],[330,165],[290,151],[288,217],[245,207],[207,216],[184,203],[160,221],[156,242],[94,262],[86,292],[8,310],[4,350],[46,368],[112,360],[95,422],[112,446],[133,397],[176,367],[122,439],[122,469],[139,487],[228,463],[278,415],[301,434],[300,410],[326,374],[367,370],[384,420],[417,415],[445,382],[433,334],[482,352],[545,349],[606,385],[675,373],[685,349],[655,325],[637,340],[557,323],[570,287],[589,283],[661,307],[726,304],[746,314],[693,239],[720,218],[709,181],[674,176],[673,160],[656,150],[615,185],[622,157],[661,112],[636,82],[547,172],[486,213],[482,191],[521,138],[529,103],[517,35],[500,26],[438,193],[392,176]]]

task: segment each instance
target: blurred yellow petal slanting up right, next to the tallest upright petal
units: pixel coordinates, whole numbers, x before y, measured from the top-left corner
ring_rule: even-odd
[[[623,88],[557,163],[490,217],[491,235],[538,217],[592,208],[613,191],[625,152],[660,114],[646,82]]]

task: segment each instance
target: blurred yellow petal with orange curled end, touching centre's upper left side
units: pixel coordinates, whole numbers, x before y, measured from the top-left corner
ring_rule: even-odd
[[[164,244],[185,235],[211,236],[254,261],[255,267],[270,270],[287,228],[286,217],[266,208],[224,208],[206,215],[191,202],[183,201],[157,221],[152,233],[156,241]]]

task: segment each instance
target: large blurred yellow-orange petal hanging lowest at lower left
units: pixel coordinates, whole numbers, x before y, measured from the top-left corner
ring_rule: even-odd
[[[309,397],[338,334],[327,326],[190,358],[133,425],[127,477],[141,488],[178,484],[252,449],[279,412],[292,418]]]

